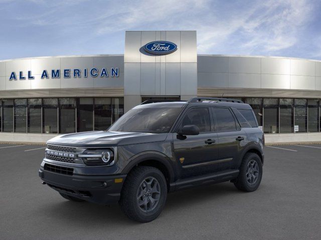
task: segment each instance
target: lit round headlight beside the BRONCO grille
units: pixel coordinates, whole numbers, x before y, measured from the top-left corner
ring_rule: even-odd
[[[87,165],[108,165],[114,160],[114,152],[110,149],[87,149],[79,157]]]

